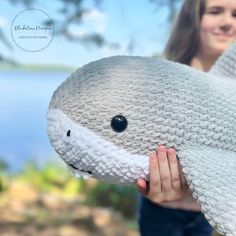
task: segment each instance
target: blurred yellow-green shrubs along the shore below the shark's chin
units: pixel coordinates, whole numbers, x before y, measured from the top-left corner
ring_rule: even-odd
[[[6,163],[0,162],[1,165],[4,167]],[[85,205],[110,207],[120,211],[126,218],[135,217],[136,190],[133,186],[78,179],[64,165],[54,162],[41,167],[28,162],[20,173],[11,177],[0,175],[0,192],[7,189],[9,178],[33,186],[38,193],[58,194],[70,199],[83,196],[82,203]]]

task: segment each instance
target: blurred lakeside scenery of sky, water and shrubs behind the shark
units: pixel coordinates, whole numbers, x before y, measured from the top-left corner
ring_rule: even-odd
[[[112,55],[161,55],[181,0],[0,2],[0,235],[138,235],[135,188],[73,177],[50,146],[46,113],[76,68]],[[39,52],[11,37],[27,8],[54,23]]]

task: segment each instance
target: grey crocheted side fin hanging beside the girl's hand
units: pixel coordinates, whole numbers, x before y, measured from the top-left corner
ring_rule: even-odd
[[[224,235],[236,236],[236,153],[198,146],[184,147],[178,156],[209,223]]]

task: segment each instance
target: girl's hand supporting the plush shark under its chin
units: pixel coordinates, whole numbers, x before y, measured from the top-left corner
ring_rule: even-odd
[[[150,181],[139,178],[136,186],[145,197],[155,203],[176,201],[186,191],[186,180],[180,172],[179,162],[173,148],[160,145],[149,156]]]

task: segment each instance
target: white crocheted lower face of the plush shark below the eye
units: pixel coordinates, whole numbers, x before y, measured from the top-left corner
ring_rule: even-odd
[[[138,177],[148,178],[148,158],[133,155],[113,143],[100,138],[85,127],[76,124],[60,110],[48,112],[52,145],[66,163],[75,168],[78,177],[96,177],[119,183],[134,183]],[[71,130],[71,136],[67,136]],[[88,152],[89,150],[89,152]],[[75,158],[79,157],[79,158]],[[88,173],[92,172],[92,174]]]

